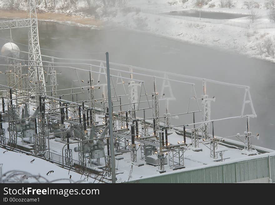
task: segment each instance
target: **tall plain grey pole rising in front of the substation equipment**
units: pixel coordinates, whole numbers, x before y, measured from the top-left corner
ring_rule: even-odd
[[[116,183],[116,165],[115,165],[115,148],[113,136],[113,108],[112,108],[112,94],[110,83],[110,67],[109,67],[109,53],[106,52],[106,68],[107,68],[107,85],[108,85],[108,107],[109,107],[109,124],[110,124],[110,151],[111,151],[111,170],[112,183]]]

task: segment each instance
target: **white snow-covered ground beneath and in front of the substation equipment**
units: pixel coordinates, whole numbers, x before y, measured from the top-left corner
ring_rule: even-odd
[[[32,107],[30,108],[30,114],[32,114],[34,111],[32,110]],[[96,115],[96,120],[97,121],[102,121],[101,118],[99,118],[100,115]],[[7,130],[8,123],[3,123],[3,128]],[[152,133],[153,130],[150,128],[149,133]],[[89,133],[89,129],[88,129]],[[170,145],[173,144],[178,144],[183,141],[183,136],[176,134],[175,130],[170,131],[170,135],[168,135],[168,142]],[[8,137],[8,131],[6,131],[6,137]],[[59,138],[57,138],[59,139]],[[219,138],[220,139],[220,138]],[[228,139],[227,139],[228,140]],[[254,139],[253,139],[254,140]],[[6,139],[8,141],[8,139]],[[70,139],[71,142],[77,142],[76,140]],[[200,140],[200,142],[202,142]],[[62,164],[62,148],[64,147],[65,143],[61,143],[58,141],[55,141],[55,139],[50,139],[50,152],[55,155],[55,157],[52,159],[56,162],[59,162]],[[190,168],[198,168],[206,165],[216,165],[221,162],[217,162],[215,160],[221,159],[220,156],[217,157],[217,159],[212,159],[210,157],[210,144],[208,142],[204,142],[204,144],[200,143],[199,148],[202,149],[202,151],[195,152],[192,150],[191,144],[191,139],[187,138],[186,143],[189,144],[188,146],[185,147],[185,152],[184,152],[184,169],[190,169]],[[18,145],[23,145],[22,139],[18,138],[17,139],[17,144]],[[46,144],[48,147],[48,140],[46,140]],[[136,144],[139,145],[139,142],[136,141]],[[241,144],[241,142],[240,142]],[[24,146],[29,147],[29,145],[24,143]],[[77,144],[70,144],[70,149],[72,149],[73,153],[73,159],[78,161],[78,153],[74,152],[74,148],[77,147]],[[66,149],[66,147],[65,147]],[[251,158],[250,156],[247,156],[245,154],[242,154],[241,149],[236,148],[227,148],[221,144],[217,145],[217,149],[226,149],[223,154],[223,159],[225,159],[225,162],[229,163],[231,160],[238,160],[238,159],[246,159],[246,158]],[[268,151],[273,151],[273,150],[268,150]],[[257,151],[254,150],[256,154]],[[64,154],[64,153],[63,153]],[[107,155],[107,146],[105,146],[105,154]],[[159,175],[158,166],[153,166],[146,164],[145,159],[141,159],[141,149],[138,146],[137,150],[137,162],[132,162],[131,161],[131,153],[126,152],[126,153],[121,153],[121,152],[116,152],[116,173],[117,173],[117,182],[125,182],[128,180],[134,180],[134,179],[139,179],[139,178],[145,178],[153,175]],[[170,152],[170,154],[172,154]],[[217,153],[216,153],[217,154]],[[65,154],[64,154],[65,155]],[[218,155],[218,154],[217,154]],[[154,155],[153,156],[157,156]],[[168,159],[168,164],[165,165],[165,170],[166,173],[169,172],[175,172],[175,171],[181,171],[181,170],[173,170],[170,165],[172,165],[172,162],[169,164],[169,155],[165,155]],[[32,160],[35,159],[33,162]],[[95,161],[94,161],[95,162]],[[88,168],[95,169],[95,170],[101,170],[100,167],[102,165],[104,166],[104,159],[100,159],[101,165],[96,165],[95,163],[88,163],[87,166]],[[139,164],[144,164],[143,166],[138,166]],[[5,149],[0,149],[0,165],[2,166],[2,172],[5,173],[7,171],[11,170],[20,170],[20,171],[26,171],[28,173],[31,173],[33,175],[40,175],[42,177],[45,177],[47,180],[52,181],[56,179],[68,179],[70,175],[72,175],[72,180],[73,181],[78,181],[78,180],[83,180],[85,177],[81,174],[75,173],[73,171],[69,171],[67,169],[63,169],[61,167],[58,167],[55,164],[52,164],[46,160],[33,157],[33,156],[27,156],[22,153],[16,153],[12,151],[6,151]],[[53,173],[50,173],[47,175],[47,172],[50,170],[54,170]],[[102,171],[102,170],[101,170]],[[96,176],[93,176],[96,177]],[[97,176],[98,177],[98,176]],[[109,179],[107,176],[105,177],[106,179]],[[64,182],[69,182],[66,180],[63,180]],[[62,181],[62,182],[63,182]],[[105,180],[106,182],[110,182],[108,180]],[[26,181],[27,182],[27,181]],[[59,181],[60,182],[60,181]],[[98,183],[97,180],[93,178],[88,178],[86,179],[85,182],[91,182],[91,183]]]

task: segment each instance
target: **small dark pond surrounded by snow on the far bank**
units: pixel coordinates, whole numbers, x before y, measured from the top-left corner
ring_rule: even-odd
[[[167,12],[165,14],[173,15],[173,16],[188,16],[188,17],[200,17],[201,18],[211,18],[211,19],[233,19],[233,18],[241,18],[246,17],[248,15],[245,14],[237,14],[237,13],[225,13],[225,12],[205,12],[205,11],[172,11]]]

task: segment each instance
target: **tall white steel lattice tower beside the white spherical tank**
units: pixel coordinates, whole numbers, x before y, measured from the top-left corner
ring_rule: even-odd
[[[32,93],[46,93],[42,58],[39,46],[35,0],[29,0],[30,26],[28,27],[29,77]]]

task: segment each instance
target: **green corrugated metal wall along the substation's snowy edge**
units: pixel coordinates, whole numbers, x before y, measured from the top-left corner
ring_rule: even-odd
[[[275,156],[183,170],[182,172],[134,180],[129,183],[240,183],[250,180],[264,183],[268,182],[269,178],[275,182]]]

